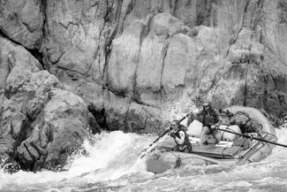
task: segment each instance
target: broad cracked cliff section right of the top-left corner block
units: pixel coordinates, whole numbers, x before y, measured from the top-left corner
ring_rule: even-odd
[[[94,81],[102,83],[107,46],[117,30],[121,1],[48,1],[46,41],[42,53],[51,73],[59,68],[70,78],[82,78],[91,68]],[[61,70],[59,70],[61,71]],[[57,75],[59,79],[61,75]]]

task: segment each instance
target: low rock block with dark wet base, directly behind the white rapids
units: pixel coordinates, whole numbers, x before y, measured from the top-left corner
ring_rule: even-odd
[[[160,110],[137,104],[124,96],[105,92],[105,115],[108,129],[124,132],[155,133],[161,118]]]

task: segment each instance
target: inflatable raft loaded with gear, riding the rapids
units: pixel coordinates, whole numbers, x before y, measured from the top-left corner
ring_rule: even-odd
[[[224,110],[229,110],[232,113],[245,111],[249,114],[250,118],[257,119],[262,125],[262,130],[265,132],[260,140],[266,142],[242,137],[241,130],[236,125],[222,125],[219,128],[226,130],[226,132],[221,131],[222,142],[215,144],[215,138],[210,134],[206,135],[207,143],[200,146],[198,142],[202,124],[197,120],[193,120],[193,123],[188,127],[186,132],[193,144],[193,152],[183,153],[172,151],[176,144],[172,137],[167,136],[152,152],[147,154],[147,171],[163,173],[184,165],[245,165],[261,161],[261,159],[268,157],[275,147],[272,142],[276,142],[276,131],[275,127],[272,126],[261,111],[243,106],[231,106]],[[242,142],[242,145],[236,144],[240,142]]]

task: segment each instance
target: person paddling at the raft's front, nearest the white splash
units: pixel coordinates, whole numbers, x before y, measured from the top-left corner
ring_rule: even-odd
[[[185,153],[192,152],[193,146],[185,132],[185,127],[180,125],[178,120],[173,120],[171,122],[171,128],[170,136],[177,143],[177,146],[173,149],[173,151],[180,151]]]

